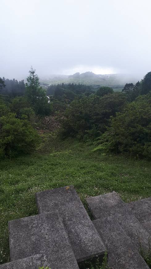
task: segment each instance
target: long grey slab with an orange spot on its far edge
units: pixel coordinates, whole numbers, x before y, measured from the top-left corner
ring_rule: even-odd
[[[57,208],[77,262],[104,255],[103,241],[73,186],[38,192],[36,203],[39,213]]]

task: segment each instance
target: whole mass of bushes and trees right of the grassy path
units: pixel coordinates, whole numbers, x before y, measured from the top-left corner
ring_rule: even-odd
[[[121,93],[101,87],[73,100],[64,113],[62,134],[96,139],[94,150],[151,158],[150,90],[151,72],[136,85],[127,83]]]

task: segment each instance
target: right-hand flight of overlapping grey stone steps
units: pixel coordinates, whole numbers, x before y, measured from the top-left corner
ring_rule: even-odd
[[[151,199],[124,203],[112,192],[86,201],[95,219],[92,222],[108,250],[110,267],[149,268],[140,255],[140,247],[146,253],[149,250]]]

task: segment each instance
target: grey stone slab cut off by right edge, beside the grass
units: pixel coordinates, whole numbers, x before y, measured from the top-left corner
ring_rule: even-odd
[[[130,202],[127,205],[140,222],[151,219],[151,197]]]

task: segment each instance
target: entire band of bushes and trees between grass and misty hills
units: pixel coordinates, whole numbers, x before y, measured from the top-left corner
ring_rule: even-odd
[[[150,90],[151,72],[135,85],[126,83],[122,92],[80,83],[46,91],[32,67],[27,83],[0,79],[0,156],[34,150],[42,128],[91,141],[95,150],[151,158]]]

